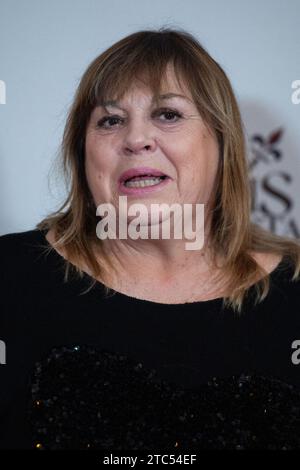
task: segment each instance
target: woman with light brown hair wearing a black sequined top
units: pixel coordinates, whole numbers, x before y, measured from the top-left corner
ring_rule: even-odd
[[[297,446],[282,413],[300,387],[299,243],[250,221],[243,126],[221,67],[185,31],[121,39],[82,77],[62,163],[64,204],[0,237],[2,447]],[[142,203],[148,234],[151,204],[204,204],[201,249],[186,236],[99,237],[97,208],[124,220],[124,195],[127,228]],[[253,394],[263,414],[249,424]]]

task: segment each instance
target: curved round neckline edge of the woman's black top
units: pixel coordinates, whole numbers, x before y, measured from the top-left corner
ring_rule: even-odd
[[[44,241],[44,243],[46,243],[47,247],[48,248],[51,248],[51,251],[50,253],[53,254],[57,259],[59,259],[60,261],[63,261],[63,262],[66,262],[66,259],[60,254],[58,253],[58,251],[51,245],[51,243],[47,240],[46,238],[46,234],[48,232],[47,229],[36,229],[39,231],[40,235],[41,235],[41,238],[42,240]],[[283,256],[281,258],[281,260],[279,261],[279,263],[275,266],[275,268],[270,271],[267,276],[269,276],[270,278],[274,279],[277,274],[279,274],[279,272],[281,272],[282,268],[285,267],[285,262],[286,262],[286,256]],[[70,263],[72,266],[75,267],[75,265],[73,263]],[[143,302],[143,303],[149,303],[149,304],[153,304],[153,305],[156,305],[156,306],[172,306],[172,307],[186,307],[186,306],[191,306],[191,305],[209,305],[209,304],[218,304],[220,302],[223,302],[225,297],[215,297],[214,299],[208,299],[208,300],[196,300],[195,302],[180,302],[180,303],[164,303],[164,302],[156,302],[155,300],[148,300],[148,299],[141,299],[139,297],[134,297],[134,296],[131,296],[129,294],[125,294],[123,292],[120,292],[120,291],[116,291],[115,289],[113,289],[112,287],[108,287],[106,286],[105,284],[103,284],[103,282],[101,281],[98,281],[97,279],[95,279],[93,276],[91,276],[90,274],[88,274],[86,271],[83,271],[81,270],[83,275],[89,279],[90,281],[92,282],[95,282],[94,286],[93,287],[96,287],[97,289],[101,289],[103,290],[103,288],[108,288],[110,290],[113,291],[113,295],[114,296],[121,296],[121,297],[124,297],[125,299],[127,300],[133,300],[133,301],[137,301],[137,302]],[[267,276],[264,276],[263,278],[261,279],[264,279],[265,277]],[[252,288],[253,286],[251,286],[250,288]]]

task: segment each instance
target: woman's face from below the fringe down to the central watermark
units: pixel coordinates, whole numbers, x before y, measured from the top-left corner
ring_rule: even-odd
[[[118,210],[119,196],[125,195],[128,207],[143,203],[149,211],[153,203],[209,201],[219,158],[216,137],[189,91],[179,88],[168,69],[162,94],[170,93],[185,98],[161,97],[154,104],[151,91],[136,82],[120,103],[93,110],[86,133],[85,171],[96,206],[111,203]],[[148,183],[131,179],[120,184],[125,171],[140,169],[143,173],[145,167],[167,178],[140,177]]]

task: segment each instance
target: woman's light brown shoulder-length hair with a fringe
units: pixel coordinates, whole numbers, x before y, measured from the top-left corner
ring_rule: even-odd
[[[173,64],[178,82],[183,78],[188,84],[199,113],[218,139],[221,158],[211,246],[215,255],[225,260],[222,273],[228,279],[230,295],[224,298],[224,305],[240,312],[251,286],[255,287],[255,303],[262,301],[270,288],[269,275],[253,253],[288,256],[294,263],[293,280],[296,280],[300,271],[300,243],[251,222],[244,129],[234,92],[220,65],[187,31],[160,28],[135,32],[113,44],[89,65],[69,111],[61,146],[68,196],[37,228],[53,229],[56,237],[53,246],[63,247],[66,281],[73,268],[82,277],[83,272],[77,266],[80,260],[92,273],[92,286],[96,278],[101,278],[104,264],[96,260],[93,251],[96,207],[84,170],[87,124],[97,104],[112,97],[122,98],[137,77],[146,77],[146,83],[157,96],[168,64]],[[109,264],[109,260],[105,261]],[[110,291],[106,288],[107,293]]]

